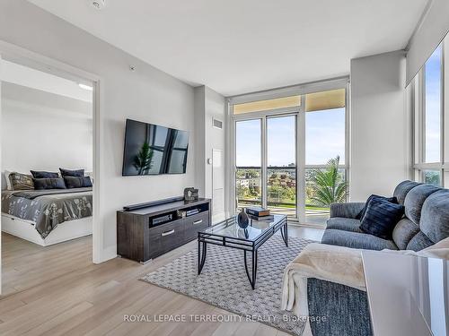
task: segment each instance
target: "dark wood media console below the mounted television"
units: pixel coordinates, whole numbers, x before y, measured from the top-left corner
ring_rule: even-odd
[[[117,211],[117,254],[146,263],[196,239],[211,225],[210,210],[210,200],[200,198]]]

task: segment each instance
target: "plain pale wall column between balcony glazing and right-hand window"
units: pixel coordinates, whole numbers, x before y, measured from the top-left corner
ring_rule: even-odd
[[[403,51],[351,60],[351,201],[391,195],[409,178]]]

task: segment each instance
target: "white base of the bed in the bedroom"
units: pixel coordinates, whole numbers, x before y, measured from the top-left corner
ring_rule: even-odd
[[[80,220],[69,220],[58,224],[45,239],[40,237],[30,220],[2,213],[2,231],[40,246],[50,246],[67,240],[92,235],[92,216]]]

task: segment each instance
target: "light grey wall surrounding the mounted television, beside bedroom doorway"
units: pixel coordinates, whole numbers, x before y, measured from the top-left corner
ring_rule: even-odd
[[[93,37],[25,0],[0,2],[0,39],[101,77],[100,200],[101,250],[94,262],[116,256],[116,211],[127,204],[178,196],[195,184],[195,146],[187,173],[121,177],[127,117],[194,132],[193,88]],[[149,41],[150,43],[151,41]],[[134,65],[132,72],[129,65]]]

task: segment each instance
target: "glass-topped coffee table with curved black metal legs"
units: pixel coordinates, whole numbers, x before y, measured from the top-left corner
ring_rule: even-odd
[[[286,215],[274,215],[273,220],[251,220],[248,228],[240,228],[237,217],[231,217],[213,227],[198,231],[198,275],[206,262],[207,244],[226,246],[243,251],[246,275],[251,288],[256,286],[257,251],[271,236],[280,230],[288,247]],[[248,271],[247,254],[251,254],[251,275]]]

